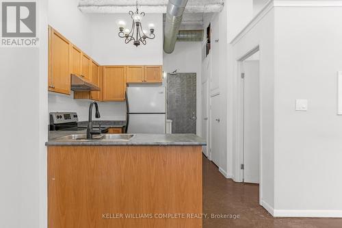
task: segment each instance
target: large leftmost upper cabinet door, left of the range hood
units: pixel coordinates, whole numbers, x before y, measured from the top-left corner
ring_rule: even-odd
[[[70,42],[49,27],[49,91],[70,94]]]

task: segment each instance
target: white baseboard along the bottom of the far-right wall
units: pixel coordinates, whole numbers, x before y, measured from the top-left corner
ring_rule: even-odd
[[[342,218],[342,210],[274,210],[274,217]]]

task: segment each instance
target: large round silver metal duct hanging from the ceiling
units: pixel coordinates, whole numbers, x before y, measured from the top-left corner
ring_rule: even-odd
[[[187,0],[170,0],[168,3],[164,31],[164,51],[166,53],[172,53],[174,51],[186,5]]]

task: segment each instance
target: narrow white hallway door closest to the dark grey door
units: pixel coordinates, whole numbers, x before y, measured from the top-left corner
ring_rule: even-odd
[[[209,103],[208,103],[208,80],[202,84],[202,138],[205,138],[208,144],[208,127],[209,127]],[[209,145],[208,145],[209,146]],[[208,157],[208,147],[202,147],[203,153]]]

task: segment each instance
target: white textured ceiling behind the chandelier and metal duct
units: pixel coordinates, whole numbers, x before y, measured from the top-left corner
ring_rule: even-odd
[[[83,13],[127,13],[134,10],[136,0],[79,0]],[[139,10],[146,13],[166,13],[168,0],[138,0]],[[224,0],[189,0],[181,29],[202,29],[205,13],[221,12]],[[165,15],[164,15],[165,21]]]

